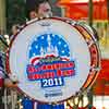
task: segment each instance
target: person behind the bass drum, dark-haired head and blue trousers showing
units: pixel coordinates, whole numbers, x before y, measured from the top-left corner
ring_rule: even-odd
[[[27,16],[29,20],[34,20],[36,17],[47,17],[52,16],[51,3],[49,0],[26,0],[27,3]],[[26,102],[25,102],[26,101]],[[31,100],[23,99],[24,109],[64,109],[64,105],[43,105],[33,101],[33,107],[29,107]],[[24,104],[25,102],[25,104]],[[28,105],[27,105],[28,104]]]

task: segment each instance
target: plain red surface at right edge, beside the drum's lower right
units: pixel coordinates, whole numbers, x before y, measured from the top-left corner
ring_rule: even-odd
[[[93,87],[94,95],[109,96],[109,60],[101,60],[101,70]]]

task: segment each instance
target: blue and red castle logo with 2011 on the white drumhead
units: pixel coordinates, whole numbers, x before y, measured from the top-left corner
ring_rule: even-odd
[[[61,35],[44,34],[35,37],[28,47],[28,81],[39,82],[45,97],[62,96],[60,87],[65,86],[65,78],[75,75],[75,62],[71,59],[68,43]],[[49,87],[55,89],[49,92]]]

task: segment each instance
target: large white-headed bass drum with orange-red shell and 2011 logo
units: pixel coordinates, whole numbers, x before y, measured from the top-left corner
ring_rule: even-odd
[[[61,17],[34,20],[13,38],[7,70],[17,87],[40,102],[59,102],[87,89],[99,72],[95,37],[78,23]]]

